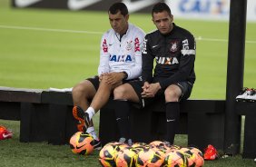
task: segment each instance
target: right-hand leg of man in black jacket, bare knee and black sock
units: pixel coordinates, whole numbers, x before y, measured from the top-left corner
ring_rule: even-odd
[[[173,143],[180,119],[180,100],[186,99],[191,93],[187,82],[175,83],[164,91],[166,101],[166,141]]]

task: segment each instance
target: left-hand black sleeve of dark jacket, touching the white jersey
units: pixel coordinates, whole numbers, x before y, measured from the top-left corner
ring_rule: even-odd
[[[154,56],[151,52],[148,35],[145,36],[143,41],[143,82],[152,83],[153,81],[153,59]]]

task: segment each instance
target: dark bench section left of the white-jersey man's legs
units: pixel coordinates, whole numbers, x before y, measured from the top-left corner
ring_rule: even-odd
[[[20,142],[68,143],[72,108],[71,93],[0,87],[0,119],[20,121]]]

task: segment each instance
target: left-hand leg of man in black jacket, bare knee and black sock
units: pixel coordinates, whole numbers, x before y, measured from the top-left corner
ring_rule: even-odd
[[[141,85],[138,86],[141,89]],[[142,92],[142,91],[140,91]],[[130,102],[139,103],[140,98],[133,89],[130,83],[124,83],[113,90],[114,96],[114,111],[116,122],[118,125],[120,140],[119,142],[127,142],[132,145],[132,138],[130,133]]]

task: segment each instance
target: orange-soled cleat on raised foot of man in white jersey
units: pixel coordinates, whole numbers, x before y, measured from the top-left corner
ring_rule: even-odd
[[[77,129],[80,132],[86,132],[86,127],[88,127],[88,125],[86,126],[86,124],[84,123],[84,111],[80,106],[74,106],[73,107],[73,116],[74,119],[79,121],[79,124],[77,124]]]

